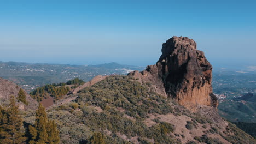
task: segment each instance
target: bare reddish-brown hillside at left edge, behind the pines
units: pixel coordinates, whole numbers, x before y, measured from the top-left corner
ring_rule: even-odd
[[[0,105],[6,105],[9,103],[9,99],[11,95],[14,97],[18,97],[18,93],[20,91],[20,87],[15,83],[2,79],[0,77]],[[25,91],[24,91],[25,92]],[[28,101],[28,105],[25,105],[21,102],[16,102],[20,110],[36,110],[38,103],[34,100],[30,95],[26,92],[26,100]]]

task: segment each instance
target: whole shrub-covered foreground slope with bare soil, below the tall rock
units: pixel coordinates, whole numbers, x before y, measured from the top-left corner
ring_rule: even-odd
[[[234,125],[191,113],[151,91],[150,83],[110,76],[69,103],[51,107],[61,143],[254,143]],[[33,116],[25,117],[33,123]],[[222,127],[223,126],[223,127]]]

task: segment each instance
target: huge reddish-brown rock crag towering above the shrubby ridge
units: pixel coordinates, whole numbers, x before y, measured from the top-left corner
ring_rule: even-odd
[[[177,99],[184,106],[217,107],[212,92],[212,65],[196,43],[187,37],[172,37],[162,44],[162,55],[155,65],[128,75],[142,82],[152,82],[161,95]]]

